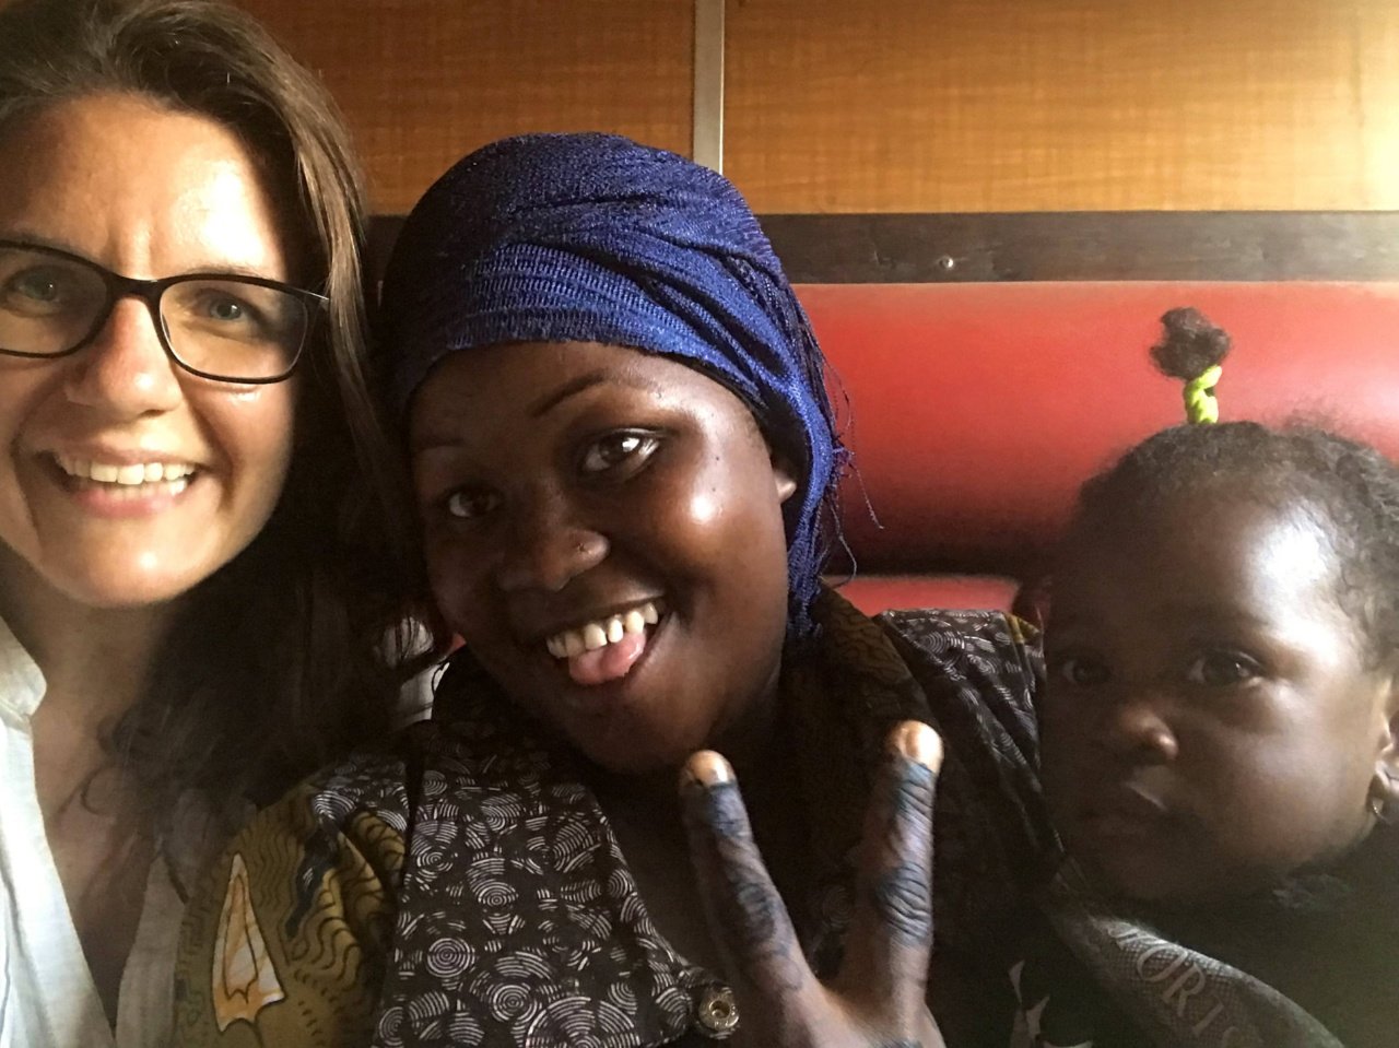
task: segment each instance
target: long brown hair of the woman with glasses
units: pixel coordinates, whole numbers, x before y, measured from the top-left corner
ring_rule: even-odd
[[[362,178],[326,91],[228,4],[0,6],[0,140],[46,106],[113,92],[238,134],[301,283],[330,299],[302,364],[295,453],[271,519],[182,599],[150,686],[111,737],[157,805],[192,786],[264,800],[388,729],[413,662],[409,600],[424,592],[410,502],[365,381]]]

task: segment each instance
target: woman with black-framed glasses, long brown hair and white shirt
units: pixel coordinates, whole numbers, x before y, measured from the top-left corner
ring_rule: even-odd
[[[201,863],[392,716],[414,561],[334,113],[221,3],[0,8],[6,1048],[168,1041]]]

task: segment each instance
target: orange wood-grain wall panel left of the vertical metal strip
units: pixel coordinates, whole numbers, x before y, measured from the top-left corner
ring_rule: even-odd
[[[379,211],[407,210],[504,134],[609,130],[690,148],[690,0],[238,3],[325,77]]]

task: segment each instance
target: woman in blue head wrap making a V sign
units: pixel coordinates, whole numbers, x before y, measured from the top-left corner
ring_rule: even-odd
[[[1046,844],[1034,649],[821,586],[845,452],[733,186],[504,140],[428,190],[383,305],[464,646],[432,722],[215,865],[180,1042],[930,1048],[936,1016],[1002,1048],[993,925]]]

